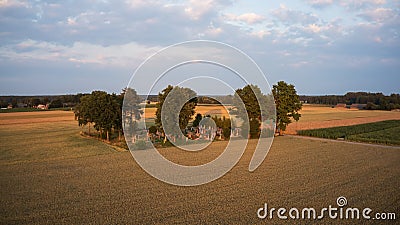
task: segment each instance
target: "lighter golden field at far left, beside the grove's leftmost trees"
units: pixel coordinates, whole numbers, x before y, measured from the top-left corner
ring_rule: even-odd
[[[2,113],[0,121],[1,164],[86,157],[113,151],[102,142],[81,137],[72,112]]]

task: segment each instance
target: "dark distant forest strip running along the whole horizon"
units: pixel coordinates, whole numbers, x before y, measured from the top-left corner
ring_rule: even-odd
[[[35,107],[39,104],[49,104],[49,108],[74,107],[79,103],[80,98],[87,94],[78,93],[75,95],[49,95],[49,96],[0,96],[0,107],[13,108]],[[141,96],[145,100],[146,96]],[[157,95],[150,95],[147,101],[156,102]],[[232,104],[233,96],[199,96],[199,104]],[[400,94],[384,95],[382,93],[370,92],[348,92],[345,95],[324,95],[324,96],[306,96],[300,95],[300,101],[308,104],[362,104],[362,108],[374,110],[392,110],[400,109]]]

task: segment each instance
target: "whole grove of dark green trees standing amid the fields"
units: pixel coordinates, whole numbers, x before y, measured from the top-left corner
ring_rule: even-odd
[[[237,89],[231,98],[233,113],[246,125],[242,125],[242,130],[246,133],[242,136],[245,138],[258,138],[261,133],[261,125],[266,120],[276,122],[278,130],[285,130],[291,122],[291,118],[294,120],[300,118],[298,111],[301,109],[301,104],[296,90],[293,85],[288,85],[283,81],[274,85],[272,93],[267,95],[264,95],[258,86],[247,85]],[[120,139],[124,127],[128,129],[125,130],[126,132],[135,137],[142,135],[144,130],[142,125],[139,126],[143,114],[140,106],[142,101],[142,97],[130,88],[124,89],[119,95],[93,91],[91,94],[81,96],[79,104],[75,108],[75,117],[79,126],[88,126],[89,135],[92,126],[102,139],[109,141],[111,136],[117,133]],[[169,85],[158,94],[155,126],[151,126],[146,131],[147,134],[161,139],[165,138],[165,131],[168,131],[167,135],[171,135],[174,139],[184,138],[180,137],[182,133],[185,134],[188,128],[191,131],[193,131],[192,128],[199,128],[200,121],[203,119],[201,114],[197,114],[192,125],[188,126],[195,114],[197,103],[198,98],[193,90]],[[212,120],[217,126],[218,135],[228,139],[232,130],[231,119],[214,116]],[[249,130],[245,130],[243,127],[249,127]],[[267,129],[272,132],[274,130],[273,127]],[[134,139],[136,140],[136,137]]]

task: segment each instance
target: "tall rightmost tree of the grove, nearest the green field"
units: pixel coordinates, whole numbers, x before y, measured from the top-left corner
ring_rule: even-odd
[[[298,121],[301,114],[301,103],[296,93],[294,85],[279,81],[272,87],[272,94],[275,99],[276,106],[276,129],[279,135],[286,130],[286,126],[292,122],[291,118]]]

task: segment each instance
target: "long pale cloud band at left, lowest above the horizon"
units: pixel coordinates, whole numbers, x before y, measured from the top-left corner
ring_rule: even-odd
[[[72,46],[45,41],[24,40],[16,45],[0,47],[3,59],[70,61],[79,64],[132,67],[137,62],[155,53],[161,47],[146,47],[131,42],[107,47],[85,42],[75,42]]]

